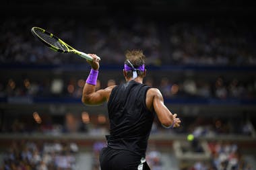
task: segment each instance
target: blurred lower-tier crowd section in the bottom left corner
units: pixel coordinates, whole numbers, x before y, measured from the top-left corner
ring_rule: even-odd
[[[3,170],[72,170],[77,144],[60,141],[18,140],[5,148]]]

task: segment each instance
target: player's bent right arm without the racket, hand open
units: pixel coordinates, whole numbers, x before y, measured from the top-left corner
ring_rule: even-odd
[[[162,94],[158,89],[152,88],[148,90],[146,103],[150,110],[156,112],[162,126],[166,128],[178,128],[180,126],[181,120],[177,118],[177,114],[172,114],[170,110],[166,108]]]

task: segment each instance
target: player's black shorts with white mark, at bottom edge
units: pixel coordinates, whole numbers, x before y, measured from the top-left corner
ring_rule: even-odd
[[[100,152],[101,170],[150,170],[144,158],[131,151],[102,148]]]

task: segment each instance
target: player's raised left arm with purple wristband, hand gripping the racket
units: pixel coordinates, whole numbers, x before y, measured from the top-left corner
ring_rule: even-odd
[[[86,80],[86,84],[84,85],[82,102],[84,104],[89,105],[98,105],[107,101],[112,89],[115,86],[107,87],[106,89],[100,89],[96,91],[96,80],[98,77],[98,69],[100,67],[99,60],[95,54],[89,54],[92,56],[93,60],[87,60],[87,62],[91,65],[92,71]]]

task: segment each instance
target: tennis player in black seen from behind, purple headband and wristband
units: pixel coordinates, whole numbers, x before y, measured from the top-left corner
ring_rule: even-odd
[[[101,170],[150,169],[146,163],[146,149],[154,116],[162,126],[178,128],[181,120],[164,105],[156,88],[143,84],[146,76],[145,56],[141,50],[125,53],[123,75],[126,83],[96,91],[99,60],[90,54],[92,69],[84,85],[82,102],[98,105],[107,101],[110,135],[107,146],[100,153]]]

